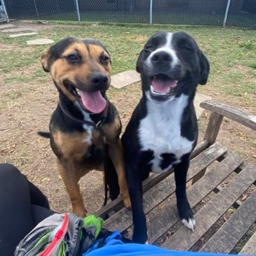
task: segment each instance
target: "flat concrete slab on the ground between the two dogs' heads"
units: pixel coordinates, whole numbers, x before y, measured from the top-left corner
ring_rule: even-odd
[[[121,89],[127,85],[132,85],[138,81],[141,81],[141,76],[139,73],[133,70],[124,71],[111,77],[112,87],[118,89]]]

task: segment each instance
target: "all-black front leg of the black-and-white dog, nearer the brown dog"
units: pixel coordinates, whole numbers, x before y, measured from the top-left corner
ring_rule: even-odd
[[[134,243],[148,243],[146,216],[143,210],[142,180],[137,169],[126,165],[126,177],[132,203],[133,237]]]

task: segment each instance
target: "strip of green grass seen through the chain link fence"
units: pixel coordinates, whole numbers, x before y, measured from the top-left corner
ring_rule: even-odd
[[[194,15],[194,13],[180,13],[173,10],[172,13],[166,12],[153,12],[152,22],[153,24],[194,24],[194,25],[210,25],[210,26],[222,26],[223,15],[217,13]],[[35,17],[37,19],[37,17]],[[81,21],[86,22],[123,22],[123,23],[141,23],[149,24],[149,13],[148,12],[82,12],[80,11]],[[65,22],[78,22],[78,16],[76,12],[65,12],[65,13],[52,13],[49,15],[40,15],[40,20],[46,21],[65,21]],[[230,14],[226,26],[255,26],[255,15]]]

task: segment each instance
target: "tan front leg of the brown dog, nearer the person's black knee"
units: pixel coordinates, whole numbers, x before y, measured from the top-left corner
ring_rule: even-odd
[[[74,214],[81,216],[82,218],[85,217],[87,211],[83,205],[83,198],[78,185],[80,176],[76,175],[77,172],[74,164],[69,161],[60,162],[60,160],[58,160],[57,164],[60,176],[62,177],[65,188],[69,193]]]

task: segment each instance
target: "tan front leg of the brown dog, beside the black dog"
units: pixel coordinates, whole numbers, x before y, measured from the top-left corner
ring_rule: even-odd
[[[131,207],[130,196],[128,192],[128,187],[125,177],[124,169],[124,158],[123,158],[123,146],[121,140],[118,138],[117,141],[112,141],[109,144],[109,155],[114,164],[115,171],[118,176],[118,183],[120,187],[121,194],[123,196],[124,205],[127,208]]]

